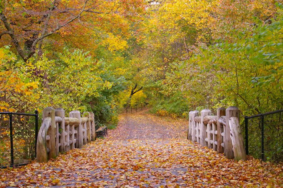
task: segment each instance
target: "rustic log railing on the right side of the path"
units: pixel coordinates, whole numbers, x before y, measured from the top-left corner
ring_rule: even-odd
[[[244,139],[240,129],[240,110],[235,106],[217,109],[211,116],[209,109],[189,112],[187,139],[223,153],[228,159],[246,160]]]

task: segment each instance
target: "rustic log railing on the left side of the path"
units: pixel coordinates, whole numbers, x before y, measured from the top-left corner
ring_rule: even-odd
[[[54,110],[46,107],[42,112],[42,123],[37,138],[37,162],[55,159],[59,152],[81,148],[90,141],[95,141],[94,113],[77,110],[65,117],[62,108]]]

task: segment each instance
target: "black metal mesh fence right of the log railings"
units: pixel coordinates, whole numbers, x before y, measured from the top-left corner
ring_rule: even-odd
[[[283,162],[283,109],[245,116],[245,149],[257,159]]]

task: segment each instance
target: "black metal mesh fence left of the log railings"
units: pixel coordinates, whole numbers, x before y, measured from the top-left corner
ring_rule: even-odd
[[[0,167],[23,166],[36,157],[38,111],[0,112]]]

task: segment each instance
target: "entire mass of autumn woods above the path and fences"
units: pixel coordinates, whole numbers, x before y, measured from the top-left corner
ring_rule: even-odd
[[[271,0],[2,1],[1,111],[58,106],[117,122],[149,102],[188,117],[283,106],[282,4]]]

